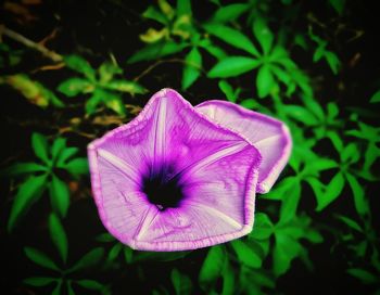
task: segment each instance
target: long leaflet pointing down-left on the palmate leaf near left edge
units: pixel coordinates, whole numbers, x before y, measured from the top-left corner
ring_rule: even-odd
[[[18,188],[8,220],[8,231],[12,231],[22,216],[26,214],[30,206],[40,198],[45,191],[46,181],[46,175],[33,176]]]

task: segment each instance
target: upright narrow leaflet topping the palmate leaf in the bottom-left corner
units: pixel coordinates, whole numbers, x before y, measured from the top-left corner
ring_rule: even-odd
[[[55,214],[50,214],[49,216],[49,232],[51,240],[60,253],[62,261],[66,264],[68,251],[67,236],[61,220]]]

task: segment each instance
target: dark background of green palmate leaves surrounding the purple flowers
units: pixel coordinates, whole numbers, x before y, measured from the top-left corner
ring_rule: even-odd
[[[370,10],[345,0],[5,1],[2,290],[380,294]],[[248,236],[193,252],[136,252],[100,223],[86,145],[164,87],[290,127],[290,163],[257,195]]]

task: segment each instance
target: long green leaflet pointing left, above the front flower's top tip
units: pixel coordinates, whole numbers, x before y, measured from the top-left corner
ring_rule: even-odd
[[[127,63],[132,64],[142,61],[156,60],[159,57],[180,52],[187,46],[187,43],[177,43],[174,41],[166,40],[152,43],[136,52],[132,56],[128,59]]]

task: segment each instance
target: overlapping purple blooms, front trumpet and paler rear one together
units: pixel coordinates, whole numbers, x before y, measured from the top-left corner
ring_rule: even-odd
[[[88,146],[100,217],[136,249],[240,238],[252,230],[255,192],[274,184],[290,145],[275,119],[227,102],[193,107],[163,89],[132,121]]]

